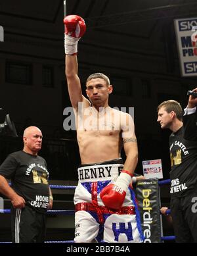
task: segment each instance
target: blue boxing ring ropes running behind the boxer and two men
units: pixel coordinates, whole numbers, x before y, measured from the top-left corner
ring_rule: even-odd
[[[162,180],[159,181],[159,186],[164,186],[165,184],[169,184],[170,180]],[[64,186],[64,185],[50,185],[52,190],[75,190],[76,186]],[[170,209],[167,210],[166,215],[170,214]],[[1,214],[10,214],[10,209],[0,209]],[[74,215],[74,210],[48,210],[47,215]],[[175,236],[161,236],[161,241],[170,241],[175,240]],[[0,242],[0,243],[11,243],[11,242]],[[74,243],[73,240],[60,240],[60,241],[45,241],[45,243]]]

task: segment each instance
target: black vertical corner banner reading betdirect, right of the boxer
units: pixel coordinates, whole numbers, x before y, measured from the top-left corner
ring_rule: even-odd
[[[161,242],[160,188],[158,179],[140,180],[136,188],[144,243]]]

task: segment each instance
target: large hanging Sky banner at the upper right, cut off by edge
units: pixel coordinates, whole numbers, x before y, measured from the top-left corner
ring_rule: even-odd
[[[197,76],[197,17],[175,19],[182,76]]]

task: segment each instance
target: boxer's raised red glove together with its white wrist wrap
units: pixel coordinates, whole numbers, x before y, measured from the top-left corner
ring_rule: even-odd
[[[86,30],[85,21],[80,16],[68,15],[64,18],[64,28],[65,53],[76,55],[77,43]]]

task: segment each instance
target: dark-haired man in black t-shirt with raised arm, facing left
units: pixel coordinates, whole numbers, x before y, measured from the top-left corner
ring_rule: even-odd
[[[197,91],[197,88],[193,91]],[[177,101],[164,101],[158,106],[161,128],[169,136],[171,158],[171,217],[176,242],[197,242],[197,98],[190,95],[183,113]],[[162,213],[167,207],[161,209]]]

